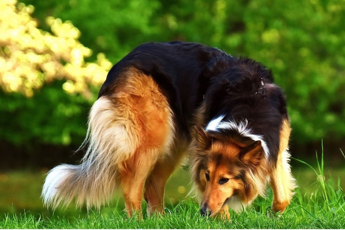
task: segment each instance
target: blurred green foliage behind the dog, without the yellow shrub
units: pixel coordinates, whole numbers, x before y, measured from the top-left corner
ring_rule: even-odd
[[[35,7],[41,29],[49,31],[48,16],[71,20],[80,42],[93,50],[90,61],[103,52],[116,63],[140,43],[171,40],[253,58],[271,68],[284,88],[295,142],[345,137],[342,0],[23,2]],[[30,99],[0,95],[0,139],[68,144],[85,135],[85,108],[92,100],[66,94],[58,84],[45,85]]]

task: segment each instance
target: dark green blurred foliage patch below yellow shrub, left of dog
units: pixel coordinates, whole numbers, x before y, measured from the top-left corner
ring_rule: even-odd
[[[14,144],[80,144],[91,101],[69,95],[56,81],[32,98],[0,91],[0,139]]]

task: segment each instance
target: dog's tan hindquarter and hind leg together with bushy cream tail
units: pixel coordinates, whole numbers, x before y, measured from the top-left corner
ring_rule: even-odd
[[[77,205],[100,208],[120,185],[132,216],[141,208],[150,171],[170,156],[172,119],[167,99],[150,76],[134,68],[120,73],[115,87],[91,108],[82,163],[50,170],[43,201],[56,208],[76,198]]]

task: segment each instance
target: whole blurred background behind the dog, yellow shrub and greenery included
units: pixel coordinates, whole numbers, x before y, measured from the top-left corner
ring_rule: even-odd
[[[292,156],[314,165],[323,140],[327,175],[344,178],[343,0],[0,0],[0,217],[52,215],[39,197],[45,173],[81,159],[73,151],[107,71],[141,43],[172,40],[272,69],[287,95]],[[291,163],[307,188],[315,176]],[[186,199],[188,182],[183,169],[172,176],[168,205]]]

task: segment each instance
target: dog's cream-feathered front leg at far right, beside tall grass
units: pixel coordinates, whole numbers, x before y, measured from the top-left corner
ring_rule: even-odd
[[[289,164],[290,154],[287,151],[290,130],[288,121],[284,120],[280,131],[278,159],[270,176],[270,185],[273,191],[272,210],[280,213],[283,213],[290,204],[294,194],[293,190],[296,188]]]

